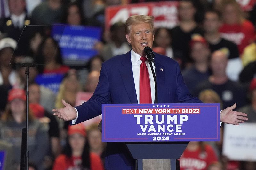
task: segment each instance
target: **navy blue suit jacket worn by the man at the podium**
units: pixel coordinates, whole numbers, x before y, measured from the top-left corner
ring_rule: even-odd
[[[158,103],[201,103],[185,85],[179,64],[155,54]],[[139,74],[139,73],[138,73]],[[102,63],[97,88],[90,100],[77,106],[76,124],[101,114],[104,103],[138,103],[135,91],[131,51]],[[123,143],[107,143],[105,166],[111,170],[133,170],[134,160]]]

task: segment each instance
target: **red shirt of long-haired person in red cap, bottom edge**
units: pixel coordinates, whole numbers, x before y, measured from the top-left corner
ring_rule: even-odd
[[[102,161],[95,153],[90,153],[91,167],[90,170],[104,170]],[[52,170],[81,170],[82,159],[81,157],[68,158],[66,155],[61,154],[54,162]]]

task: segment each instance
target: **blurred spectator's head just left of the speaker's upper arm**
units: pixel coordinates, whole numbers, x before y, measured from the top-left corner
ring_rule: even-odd
[[[99,71],[91,71],[86,80],[86,84],[84,87],[85,92],[94,92],[98,82],[99,82],[100,72]]]

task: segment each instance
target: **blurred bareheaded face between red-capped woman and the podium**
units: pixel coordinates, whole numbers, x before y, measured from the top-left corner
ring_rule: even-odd
[[[101,132],[98,129],[98,123],[92,123],[86,129],[90,151],[99,155],[104,160],[106,144],[101,142]]]

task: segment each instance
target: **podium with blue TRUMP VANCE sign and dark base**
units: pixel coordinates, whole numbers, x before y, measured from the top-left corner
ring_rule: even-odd
[[[170,159],[176,170],[189,141],[219,140],[219,103],[102,105],[102,141],[124,142],[137,170],[147,159]]]

